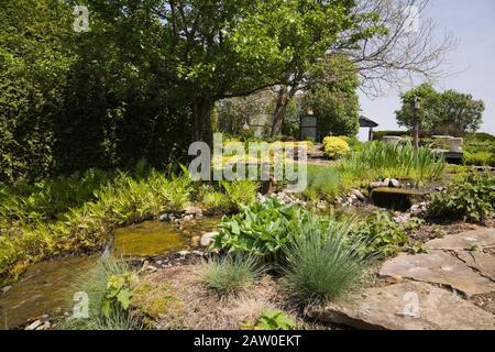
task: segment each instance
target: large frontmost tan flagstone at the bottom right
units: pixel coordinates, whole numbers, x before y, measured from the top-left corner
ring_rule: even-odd
[[[495,317],[426,283],[407,282],[365,289],[354,299],[310,309],[320,321],[381,330],[493,330]]]

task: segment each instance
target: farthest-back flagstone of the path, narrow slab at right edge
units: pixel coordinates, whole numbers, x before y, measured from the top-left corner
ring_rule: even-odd
[[[435,239],[426,243],[430,250],[462,251],[474,248],[495,246],[495,229],[480,228],[474,231],[448,235],[443,239]]]

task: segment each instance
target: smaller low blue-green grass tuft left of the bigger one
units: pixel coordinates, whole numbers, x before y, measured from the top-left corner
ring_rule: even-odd
[[[208,288],[228,295],[248,288],[262,272],[253,256],[228,255],[202,263],[200,276]]]

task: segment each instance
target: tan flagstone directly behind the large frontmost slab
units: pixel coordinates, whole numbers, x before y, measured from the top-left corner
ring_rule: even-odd
[[[468,297],[495,292],[495,283],[481,276],[450,253],[433,251],[428,254],[402,254],[385,262],[382,276],[435,283],[455,288]]]

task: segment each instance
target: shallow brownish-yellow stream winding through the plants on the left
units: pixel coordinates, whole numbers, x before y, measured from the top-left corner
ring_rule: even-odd
[[[145,221],[114,232],[111,253],[118,257],[148,257],[187,250],[199,237],[216,230],[220,218],[183,223]],[[99,256],[79,256],[32,265],[21,280],[0,295],[0,330],[14,329],[45,314],[61,314],[68,307],[77,279],[88,273]]]

